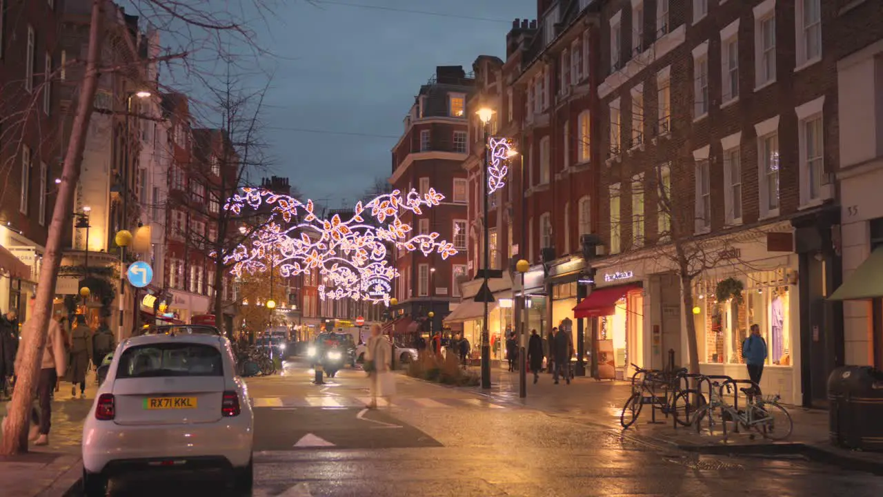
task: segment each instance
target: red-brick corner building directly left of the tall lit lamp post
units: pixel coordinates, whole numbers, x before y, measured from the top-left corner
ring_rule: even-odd
[[[405,211],[402,220],[413,227],[412,233],[439,233],[459,250],[447,260],[436,253],[396,251],[394,264],[401,276],[393,289],[398,303],[392,311],[403,317],[396,322],[396,333],[416,333],[418,328],[428,332],[430,311],[433,329],[440,330],[450,302],[459,301],[455,281],[466,272],[468,239],[466,173],[461,164],[469,147],[465,111],[473,87],[472,74],[461,66],[437,67],[420,87],[404,119],[404,134],[392,149],[393,187],[405,194],[434,188],[445,197],[418,217]]]

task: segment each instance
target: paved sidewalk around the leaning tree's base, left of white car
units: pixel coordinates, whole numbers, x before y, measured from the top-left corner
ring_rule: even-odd
[[[4,495],[16,497],[63,496],[72,493],[82,476],[80,440],[98,386],[94,375],[87,378],[86,399],[71,398],[71,384],[64,381],[52,401],[49,445],[28,447],[24,455],[0,457],[0,482]],[[0,401],[0,417],[6,416],[7,401]],[[2,436],[2,433],[0,433]]]

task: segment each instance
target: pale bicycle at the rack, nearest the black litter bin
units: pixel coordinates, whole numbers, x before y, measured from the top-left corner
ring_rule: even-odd
[[[735,423],[736,428],[741,425],[745,429],[759,432],[766,440],[787,439],[794,430],[794,421],[788,410],[779,403],[781,397],[778,394],[764,397],[757,384],[752,383],[751,388],[739,389],[743,394],[746,394],[748,399],[745,409],[737,409],[736,406],[723,401],[723,388],[727,387],[727,392],[730,393],[732,385],[740,381],[747,382],[747,380],[727,380],[722,385],[716,381],[713,382],[712,398],[693,416],[692,423],[696,425],[696,432],[701,432],[702,422],[706,416],[709,424],[708,431],[713,432],[713,425],[717,422],[714,417],[714,409],[720,409],[723,440],[725,441],[728,438],[728,421]],[[751,440],[754,440],[753,433]]]

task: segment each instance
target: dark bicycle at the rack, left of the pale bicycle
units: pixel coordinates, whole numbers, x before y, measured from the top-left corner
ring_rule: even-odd
[[[619,422],[623,428],[628,428],[641,414],[645,404],[650,404],[653,409],[653,421],[656,422],[656,411],[660,409],[666,417],[672,415],[675,424],[689,426],[691,424],[691,410],[693,407],[693,396],[698,395],[700,405],[705,404],[705,395],[701,394],[695,388],[682,388],[681,381],[687,375],[686,368],[676,371],[659,371],[645,370],[632,363],[635,368],[635,374],[631,377],[631,395],[629,400],[625,401],[623,411],[620,414]],[[640,378],[640,382],[638,382]],[[658,389],[661,392],[658,393]]]

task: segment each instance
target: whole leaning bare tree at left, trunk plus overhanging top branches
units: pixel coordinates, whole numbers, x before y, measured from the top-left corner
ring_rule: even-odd
[[[140,13],[153,27],[170,34],[169,46],[156,57],[166,62],[179,61],[189,68],[191,75],[208,73],[206,57],[199,60],[196,56],[204,51],[212,51],[215,60],[218,57],[233,60],[236,50],[241,47],[260,51],[253,42],[255,39],[248,25],[238,17],[245,17],[244,11],[230,13],[220,6],[213,5],[210,0],[134,0],[135,10]],[[257,12],[262,11],[260,0],[248,4]],[[68,64],[81,65],[84,68],[79,92],[74,99],[74,114],[71,134],[66,144],[66,153],[62,167],[62,175],[57,188],[57,200],[49,225],[49,236],[46,241],[42,258],[42,269],[37,286],[34,316],[29,323],[30,333],[22,344],[21,362],[19,367],[18,385],[9,405],[6,423],[4,423],[3,446],[0,452],[13,455],[27,449],[27,424],[29,409],[36,388],[36,378],[40,371],[40,359],[46,344],[49,319],[51,318],[52,300],[55,294],[57,271],[62,258],[62,242],[64,230],[71,223],[73,195],[79,181],[79,174],[86,144],[87,130],[94,111],[94,98],[98,79],[102,73],[121,72],[128,76],[144,76],[145,60],[139,52],[131,36],[125,36],[132,54],[132,61],[123,64],[106,64],[102,60],[105,50],[107,33],[104,22],[113,4],[109,0],[91,0],[88,7],[88,44],[85,60],[72,60]],[[254,12],[251,13],[252,17]],[[237,47],[230,50],[230,47]],[[232,189],[232,188],[231,188]],[[220,271],[219,271],[220,272]]]

